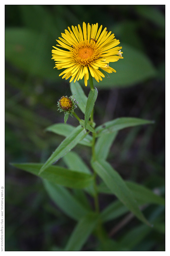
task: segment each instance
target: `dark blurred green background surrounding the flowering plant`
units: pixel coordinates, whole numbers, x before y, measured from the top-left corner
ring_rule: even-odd
[[[157,188],[164,196],[165,5],[5,5],[6,251],[57,250],[65,246],[75,226],[50,200],[40,179],[9,163],[45,162],[62,141],[63,137],[44,131],[64,122],[57,101],[71,95],[69,80],[53,69],[51,50],[61,32],[82,26],[83,21],[111,30],[124,57],[111,64],[117,72],[109,75],[110,80],[95,83],[96,124],[118,117],[155,120],[154,125],[120,131],[108,161],[125,180]],[[88,95],[89,86],[80,82]],[[84,118],[80,110],[75,112]],[[67,123],[78,125],[71,117]],[[88,147],[76,146],[74,151],[89,161]],[[59,164],[64,166],[62,159]],[[101,195],[101,209],[114,198]],[[159,225],[139,232],[129,250],[164,251],[164,207],[150,205],[144,214],[155,216]],[[106,223],[107,232],[121,219]],[[139,225],[134,218],[113,238],[119,241],[132,231],[134,241]],[[90,236],[82,250],[93,251],[95,243]]]

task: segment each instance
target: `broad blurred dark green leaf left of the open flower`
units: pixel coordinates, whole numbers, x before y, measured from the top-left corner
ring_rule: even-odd
[[[54,62],[49,58],[53,41],[49,34],[27,28],[5,29],[5,59],[33,76],[59,80]],[[43,42],[39,44],[38,42]]]

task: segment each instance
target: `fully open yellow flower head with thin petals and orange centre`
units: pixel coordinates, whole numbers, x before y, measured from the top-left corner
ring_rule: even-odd
[[[71,77],[70,82],[74,79],[74,83],[84,77],[84,84],[87,86],[89,71],[97,82],[105,77],[102,70],[108,73],[116,72],[109,66],[109,62],[123,59],[122,52],[120,54],[122,47],[115,47],[120,42],[114,38],[111,31],[108,32],[107,28],[102,31],[102,25],[98,30],[98,23],[92,26],[88,23],[86,26],[83,22],[82,30],[80,25],[78,28],[76,26],[71,28],[72,31],[68,27],[65,33],[61,33],[63,38],[59,37],[59,40],[56,40],[59,43],[56,45],[66,50],[55,46],[53,46],[55,50],[52,50],[55,67],[65,68],[59,76],[63,75],[62,78],[65,79]]]

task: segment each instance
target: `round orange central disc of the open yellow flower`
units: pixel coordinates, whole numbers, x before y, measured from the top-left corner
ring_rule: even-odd
[[[73,50],[72,58],[80,65],[86,66],[94,63],[100,57],[98,47],[93,43],[79,44]]]

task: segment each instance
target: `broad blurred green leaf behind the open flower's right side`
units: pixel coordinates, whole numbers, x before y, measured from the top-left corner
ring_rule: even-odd
[[[156,69],[147,54],[122,41],[120,46],[122,46],[123,59],[109,63],[109,66],[114,68],[116,73],[109,74],[110,80],[105,77],[100,83],[94,79],[94,86],[97,88],[109,89],[113,87],[122,88],[132,86],[156,76]]]

